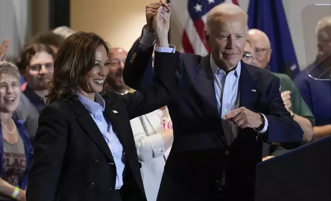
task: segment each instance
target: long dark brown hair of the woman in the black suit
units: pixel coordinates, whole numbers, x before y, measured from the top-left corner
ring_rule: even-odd
[[[89,89],[85,75],[93,68],[95,52],[101,45],[108,54],[107,43],[95,33],[77,32],[65,39],[54,62],[47,104],[56,100],[72,101],[77,98],[78,87]]]

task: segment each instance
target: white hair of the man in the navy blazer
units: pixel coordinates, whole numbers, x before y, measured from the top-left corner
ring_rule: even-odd
[[[219,4],[209,11],[207,14],[206,28],[205,30],[209,32],[210,22],[215,16],[219,15],[236,15],[244,14],[245,15],[245,24],[246,24],[246,33],[248,31],[248,15],[241,9],[239,6],[234,4]]]

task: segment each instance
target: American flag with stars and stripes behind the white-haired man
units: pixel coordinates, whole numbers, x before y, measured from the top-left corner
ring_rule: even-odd
[[[207,13],[218,4],[235,4],[238,0],[189,0],[189,19],[182,35],[182,52],[205,56],[210,52],[205,43]]]

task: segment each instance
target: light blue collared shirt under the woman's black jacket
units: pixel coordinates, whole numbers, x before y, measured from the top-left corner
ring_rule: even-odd
[[[80,94],[78,94],[78,98],[97,124],[103,138],[106,140],[106,143],[112,152],[117,171],[115,189],[120,189],[123,186],[123,170],[125,167],[123,163],[123,147],[113,131],[112,124],[107,122],[103,116],[105,101],[99,93],[95,93],[95,102]]]

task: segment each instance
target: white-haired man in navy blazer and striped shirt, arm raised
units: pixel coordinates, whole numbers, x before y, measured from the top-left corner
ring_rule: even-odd
[[[154,42],[155,51],[180,57],[178,92],[168,105],[174,142],[157,200],[254,200],[263,142],[295,148],[303,132],[283,105],[279,78],[241,62],[246,13],[233,4],[214,7],[205,31],[211,53],[201,57],[175,52],[168,32],[153,33],[169,26],[150,23],[156,9],[170,18],[170,5],[146,7],[147,25],[128,54],[123,78],[137,90],[153,83]]]

